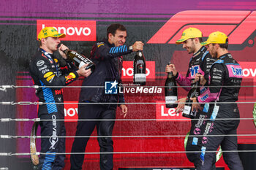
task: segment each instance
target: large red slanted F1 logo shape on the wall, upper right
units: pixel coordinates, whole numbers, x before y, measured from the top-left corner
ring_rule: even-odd
[[[196,27],[208,36],[213,31],[227,34],[229,43],[241,45],[255,31],[256,11],[192,10],[178,12],[148,40],[149,44],[175,44],[182,32]],[[249,42],[249,44],[252,41]]]

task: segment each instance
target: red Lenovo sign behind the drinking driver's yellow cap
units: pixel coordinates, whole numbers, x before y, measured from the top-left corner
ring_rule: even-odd
[[[94,20],[37,20],[37,34],[50,26],[61,34],[64,41],[96,41],[96,21]]]

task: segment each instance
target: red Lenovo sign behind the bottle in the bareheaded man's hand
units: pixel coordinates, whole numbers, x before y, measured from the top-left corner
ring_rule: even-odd
[[[154,81],[155,79],[155,61],[146,61],[146,81]],[[122,81],[133,80],[133,62],[124,61],[122,69]]]

